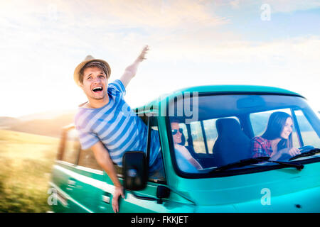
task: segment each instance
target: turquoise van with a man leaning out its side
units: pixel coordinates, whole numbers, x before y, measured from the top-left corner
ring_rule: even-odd
[[[147,150],[125,153],[122,167],[115,165],[125,194],[119,212],[320,211],[319,114],[300,94],[261,86],[191,87],[134,110],[149,135],[158,131],[163,167],[149,174],[150,142]],[[292,116],[292,146],[301,154],[254,157],[253,138],[276,111]],[[189,168],[189,160],[201,168]],[[81,149],[75,127],[63,128],[50,180],[52,211],[113,212],[113,190],[92,151]]]

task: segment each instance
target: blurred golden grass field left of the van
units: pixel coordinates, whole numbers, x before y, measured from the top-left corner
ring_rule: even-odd
[[[46,212],[58,139],[0,130],[0,212]]]

